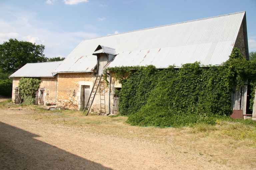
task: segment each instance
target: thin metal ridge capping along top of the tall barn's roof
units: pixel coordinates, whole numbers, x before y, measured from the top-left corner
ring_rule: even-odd
[[[217,17],[228,16],[228,15],[234,15],[234,14],[245,13],[245,12],[246,12],[246,11],[240,11],[240,12],[235,12],[235,13],[230,13],[230,14],[218,15],[218,16],[214,16],[214,17],[207,17],[207,18],[201,18],[201,19],[196,19],[196,20],[189,20],[189,21],[184,21],[184,22],[179,22],[179,23],[173,23],[173,24],[167,24],[167,25],[162,25],[162,26],[144,28],[144,29],[133,30],[133,31],[128,31],[128,32],[124,32],[124,33],[119,33],[119,34],[113,34],[113,35],[108,35],[108,36],[101,36],[101,37],[86,39],[86,40],[83,40],[83,41],[93,40],[93,39],[99,39],[99,38],[103,38],[103,37],[116,36],[116,35],[120,35],[120,34],[132,33],[132,32],[143,31],[143,30],[150,30],[150,29],[161,28],[161,27],[166,27],[166,26],[171,26],[171,25],[189,23],[189,22],[194,22],[194,21],[207,20],[207,19],[211,19],[211,18],[217,18]],[[82,41],[82,42],[83,42],[83,41]],[[82,42],[80,42],[80,43],[82,43]],[[79,44],[80,44],[80,43],[79,43]],[[78,46],[79,46],[79,44],[78,44]]]

